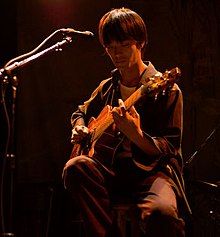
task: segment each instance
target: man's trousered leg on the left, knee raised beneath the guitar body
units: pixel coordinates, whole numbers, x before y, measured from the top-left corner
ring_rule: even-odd
[[[67,190],[78,201],[88,237],[105,237],[112,228],[107,179],[114,174],[86,156],[69,160],[63,172]]]

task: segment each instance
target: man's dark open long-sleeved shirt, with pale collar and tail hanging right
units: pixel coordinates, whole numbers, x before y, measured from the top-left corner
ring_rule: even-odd
[[[140,85],[145,85],[149,78],[155,75],[162,75],[150,62],[145,62],[145,64],[148,66],[142,75]],[[71,124],[73,127],[82,124],[82,121],[87,126],[91,117],[97,118],[106,105],[118,106],[118,99],[121,98],[118,83],[120,78],[119,71],[113,70],[112,76],[99,84],[91,97],[82,105],[79,105],[78,109],[72,114]],[[118,170],[118,174],[123,176],[123,172],[125,172],[124,177],[128,182],[128,176],[131,176],[130,180],[132,180],[133,175],[130,174],[136,172],[138,176],[146,177],[145,184],[149,185],[158,177],[166,179],[173,186],[180,200],[184,202],[185,210],[191,214],[182,177],[183,98],[180,88],[174,83],[171,88],[166,90],[166,93],[160,93],[157,99],[146,94],[135,103],[135,108],[140,115],[143,134],[157,146],[160,154],[157,157],[149,157],[131,142],[132,159],[120,161],[113,157],[116,165],[114,166],[114,163],[112,165],[114,168],[116,167],[116,173]],[[117,148],[114,152],[115,157],[121,152],[121,146]],[[109,157],[104,155],[104,160],[106,159],[109,159]],[[119,187],[121,189],[122,186],[119,184]]]

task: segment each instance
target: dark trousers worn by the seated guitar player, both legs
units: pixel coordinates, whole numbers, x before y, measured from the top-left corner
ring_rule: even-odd
[[[88,237],[120,237],[112,212],[118,197],[135,203],[143,236],[185,236],[170,182],[159,174],[152,179],[131,159],[107,168],[96,159],[77,156],[66,163],[63,180],[80,206]]]

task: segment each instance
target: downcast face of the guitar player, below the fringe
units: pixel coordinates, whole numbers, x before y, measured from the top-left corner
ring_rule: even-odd
[[[134,40],[112,41],[105,50],[119,70],[130,69],[141,62],[141,48]]]

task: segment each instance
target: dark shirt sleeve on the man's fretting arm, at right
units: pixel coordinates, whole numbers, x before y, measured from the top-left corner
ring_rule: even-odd
[[[144,136],[155,144],[159,150],[156,157],[147,156],[142,150],[133,146],[133,151],[137,161],[146,166],[167,163],[170,157],[174,157],[178,165],[182,166],[181,141],[183,127],[183,98],[179,87],[175,84],[167,100],[161,107],[162,113],[157,112],[155,119],[154,134],[143,131]],[[147,156],[147,157],[146,157]]]

